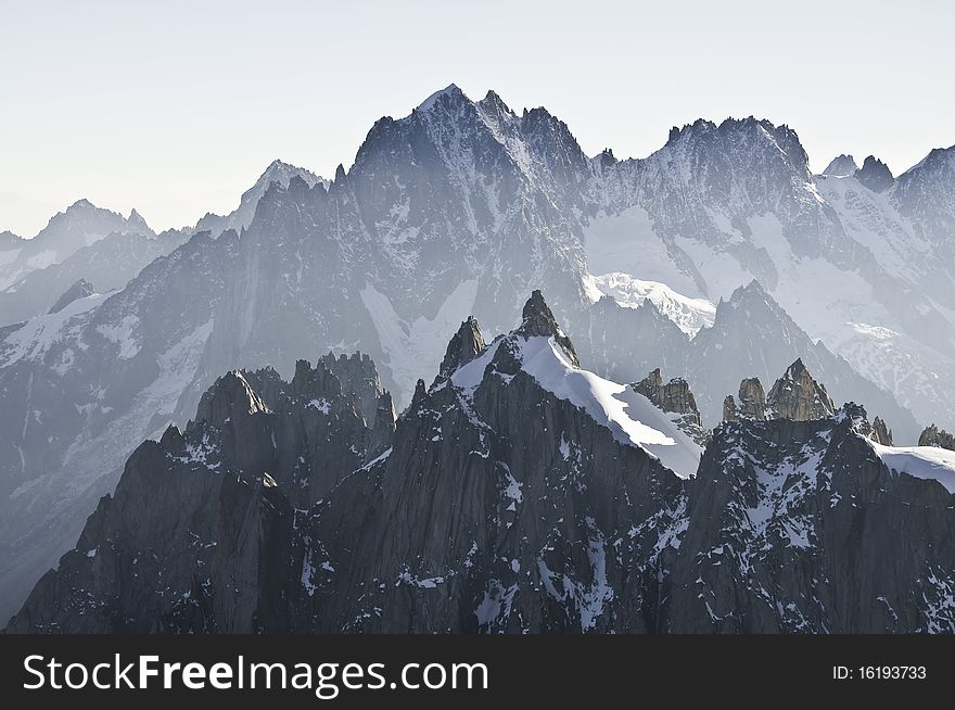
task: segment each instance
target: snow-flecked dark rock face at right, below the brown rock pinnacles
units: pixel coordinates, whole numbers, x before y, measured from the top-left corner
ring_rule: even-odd
[[[846,406],[717,429],[679,550],[661,560],[661,629],[955,632],[952,495],[890,471],[856,431],[863,422]]]

